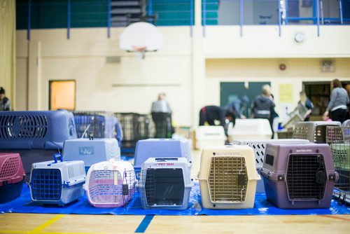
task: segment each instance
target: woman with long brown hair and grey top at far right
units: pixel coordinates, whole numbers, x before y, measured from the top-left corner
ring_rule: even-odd
[[[343,123],[346,120],[347,104],[349,104],[349,94],[346,89],[342,88],[342,83],[338,79],[330,82],[332,92],[330,94],[330,102],[328,103],[323,119],[330,116],[332,121]]]

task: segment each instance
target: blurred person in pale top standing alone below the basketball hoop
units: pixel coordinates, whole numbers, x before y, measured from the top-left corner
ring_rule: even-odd
[[[155,123],[155,138],[172,137],[172,109],[166,100],[166,95],[161,92],[158,100],[152,103],[151,115]]]

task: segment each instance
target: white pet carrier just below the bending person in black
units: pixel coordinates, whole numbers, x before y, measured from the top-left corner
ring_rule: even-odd
[[[205,146],[223,146],[226,136],[223,126],[200,126],[195,132],[195,149]]]

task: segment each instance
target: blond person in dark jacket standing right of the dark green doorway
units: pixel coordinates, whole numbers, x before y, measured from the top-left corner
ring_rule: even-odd
[[[251,118],[266,118],[272,130],[272,137],[274,130],[272,128],[272,121],[274,118],[274,102],[272,101],[269,85],[262,86],[261,95],[255,97],[251,106]]]

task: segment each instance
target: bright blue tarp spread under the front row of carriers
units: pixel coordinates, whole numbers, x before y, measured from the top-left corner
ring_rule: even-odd
[[[31,202],[30,192],[24,185],[20,198],[0,205],[0,212],[39,213],[39,214],[130,214],[130,215],[288,215],[288,214],[350,214],[350,207],[339,205],[332,200],[330,209],[279,209],[266,200],[265,194],[255,195],[255,205],[252,209],[215,210],[204,209],[200,202],[200,186],[195,186],[190,194],[190,208],[186,210],[143,209],[138,208],[96,208],[87,201],[86,196],[65,207],[54,205],[36,205]]]

